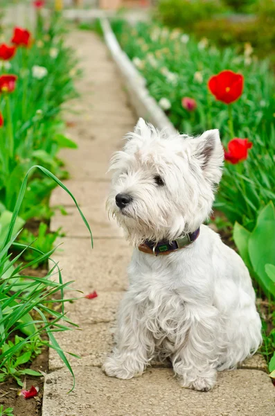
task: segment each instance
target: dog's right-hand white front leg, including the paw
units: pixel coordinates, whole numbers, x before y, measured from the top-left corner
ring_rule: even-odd
[[[188,331],[172,356],[172,365],[184,388],[208,391],[216,381],[218,311],[214,306],[186,304]]]

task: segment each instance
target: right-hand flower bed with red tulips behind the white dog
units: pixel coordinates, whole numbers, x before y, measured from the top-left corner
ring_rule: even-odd
[[[117,20],[112,26],[150,94],[179,131],[220,130],[226,161],[215,208],[233,227],[258,296],[274,299],[275,80],[269,62],[258,62],[249,44],[238,55],[155,24],[130,26]],[[224,227],[224,221],[219,225]],[[270,358],[274,329],[265,341]],[[275,369],[275,358],[269,369]]]

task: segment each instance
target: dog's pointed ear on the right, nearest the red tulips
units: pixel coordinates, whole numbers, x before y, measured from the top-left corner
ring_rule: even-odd
[[[211,182],[220,182],[224,149],[218,129],[207,130],[198,138],[197,156],[202,161],[205,177]]]

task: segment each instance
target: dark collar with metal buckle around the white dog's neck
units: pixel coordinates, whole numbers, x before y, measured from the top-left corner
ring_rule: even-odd
[[[148,254],[170,254],[171,252],[177,251],[180,248],[186,247],[193,243],[199,236],[199,228],[194,232],[188,234],[181,234],[177,239],[169,241],[160,241],[159,243],[154,243],[154,241],[145,240],[143,244],[139,245],[139,251]]]

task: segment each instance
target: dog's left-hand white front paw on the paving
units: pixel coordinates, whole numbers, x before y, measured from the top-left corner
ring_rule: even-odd
[[[133,377],[141,376],[143,368],[134,368],[133,362],[127,365],[127,362],[114,356],[109,356],[102,366],[103,372],[109,377],[116,377],[117,379],[132,379]]]

